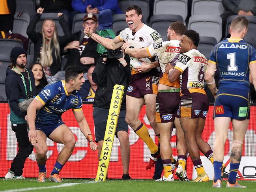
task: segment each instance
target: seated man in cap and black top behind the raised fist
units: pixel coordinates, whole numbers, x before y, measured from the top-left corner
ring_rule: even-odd
[[[87,25],[91,25],[93,32],[96,31],[98,27],[98,19],[96,15],[88,13],[84,15],[82,27],[85,28]],[[82,28],[81,28],[82,30]],[[84,35],[82,31],[75,32],[72,34],[73,41],[68,43],[64,48],[69,49],[68,61],[65,68],[69,65],[77,65],[82,68],[83,73],[86,73],[91,65],[95,65],[99,59],[99,54],[97,53],[97,42],[92,38]]]

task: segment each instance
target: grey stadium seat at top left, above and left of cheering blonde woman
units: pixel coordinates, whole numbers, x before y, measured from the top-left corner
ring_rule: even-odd
[[[28,13],[31,17],[36,13],[35,0],[16,0],[16,12]]]

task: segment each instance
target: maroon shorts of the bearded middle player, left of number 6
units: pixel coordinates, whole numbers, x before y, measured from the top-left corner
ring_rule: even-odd
[[[179,91],[174,93],[158,92],[155,101],[155,121],[168,123],[174,121],[174,117],[179,117],[179,101]]]

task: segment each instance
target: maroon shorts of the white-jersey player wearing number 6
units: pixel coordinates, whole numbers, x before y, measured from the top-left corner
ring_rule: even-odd
[[[181,96],[179,103],[180,118],[198,118],[206,119],[209,109],[209,101],[206,94],[189,93]]]

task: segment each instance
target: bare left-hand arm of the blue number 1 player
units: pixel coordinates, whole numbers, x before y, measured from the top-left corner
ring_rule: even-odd
[[[216,96],[216,94],[218,92],[218,89],[216,87],[216,83],[214,80],[214,74],[216,71],[216,67],[217,66],[215,64],[208,62],[208,66],[206,69],[206,83],[214,97]]]

